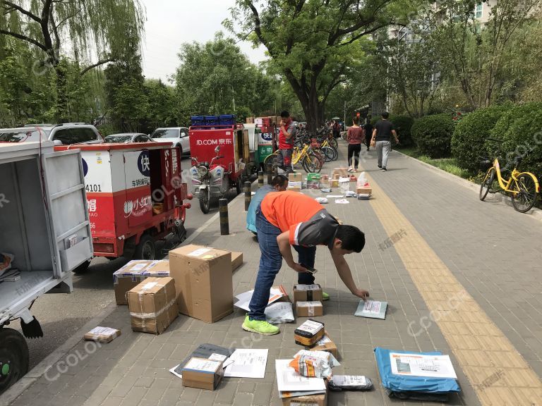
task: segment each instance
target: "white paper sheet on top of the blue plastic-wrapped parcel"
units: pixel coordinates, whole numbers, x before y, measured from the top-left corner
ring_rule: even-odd
[[[392,374],[457,379],[449,355],[418,355],[390,352]]]

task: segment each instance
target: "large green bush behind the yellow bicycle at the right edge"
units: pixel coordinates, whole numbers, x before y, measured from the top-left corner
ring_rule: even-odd
[[[502,144],[486,140],[491,158],[498,156],[500,167],[510,170],[517,156],[523,158],[521,171],[542,176],[542,103],[526,103],[506,111],[490,133]]]

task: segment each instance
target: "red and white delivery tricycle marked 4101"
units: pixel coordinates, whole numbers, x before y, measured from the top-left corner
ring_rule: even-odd
[[[169,142],[78,144],[95,257],[155,259],[155,242],[186,238],[181,154]],[[88,268],[86,262],[76,273]]]

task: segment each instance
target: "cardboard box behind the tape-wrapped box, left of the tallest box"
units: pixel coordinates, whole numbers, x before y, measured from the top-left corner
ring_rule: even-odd
[[[113,273],[113,288],[116,304],[128,305],[126,293],[135,288],[146,278],[163,278],[169,276],[169,261],[130,261]]]

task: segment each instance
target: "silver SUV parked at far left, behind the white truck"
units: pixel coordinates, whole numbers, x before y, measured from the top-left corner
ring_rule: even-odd
[[[100,144],[104,139],[94,125],[85,123],[32,124],[0,129],[0,141],[53,141],[55,145]]]

